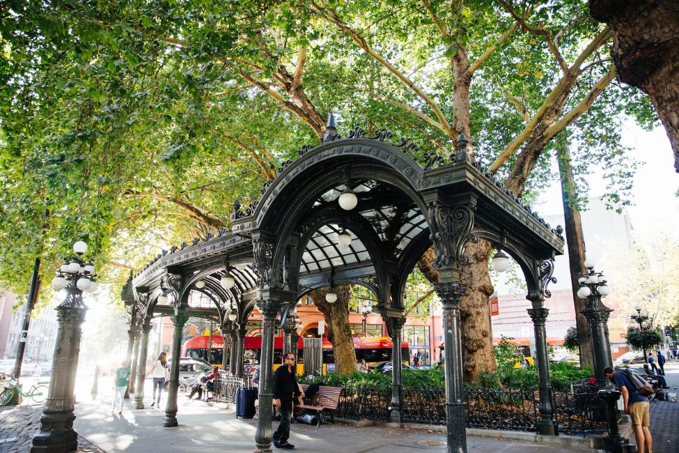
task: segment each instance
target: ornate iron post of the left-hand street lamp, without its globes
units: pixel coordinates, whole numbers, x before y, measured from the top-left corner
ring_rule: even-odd
[[[40,418],[40,431],[33,437],[31,452],[74,452],[78,435],[73,431],[75,374],[80,353],[81,325],[87,307],[76,280],[66,287],[65,300],[56,307],[58,334],[54,344],[49,394]]]

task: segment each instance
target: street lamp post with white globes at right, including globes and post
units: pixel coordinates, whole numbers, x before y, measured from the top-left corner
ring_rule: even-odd
[[[611,358],[611,343],[608,334],[608,318],[613,310],[606,307],[602,298],[611,292],[603,272],[594,270],[594,262],[585,260],[587,272],[581,274],[578,282],[582,286],[577,290],[579,298],[587,298],[587,306],[582,314],[587,318],[592,339],[592,353],[594,359],[594,375],[599,388],[606,387],[607,379],[604,368],[613,367]]]

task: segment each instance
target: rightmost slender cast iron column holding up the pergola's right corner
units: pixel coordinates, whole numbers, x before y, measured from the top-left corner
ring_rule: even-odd
[[[526,296],[533,304],[528,309],[528,314],[533,320],[535,332],[536,360],[538,361],[538,388],[540,390],[540,420],[538,421],[538,433],[547,436],[556,436],[556,424],[554,423],[554,408],[552,407],[552,382],[549,380],[549,356],[547,355],[547,332],[545,321],[549,309],[545,308],[545,298],[541,293],[531,293]]]

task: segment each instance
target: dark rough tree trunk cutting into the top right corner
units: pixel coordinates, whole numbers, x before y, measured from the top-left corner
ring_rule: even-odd
[[[590,0],[590,13],[613,30],[618,78],[650,96],[679,172],[679,2]]]

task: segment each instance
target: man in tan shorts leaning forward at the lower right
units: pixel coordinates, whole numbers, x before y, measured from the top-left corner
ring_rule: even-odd
[[[632,371],[615,371],[611,367],[604,368],[604,376],[610,379],[620,389],[623,395],[625,413],[630,414],[632,426],[634,427],[634,438],[637,440],[637,450],[639,453],[653,452],[653,439],[650,437],[648,426],[650,425],[650,401],[642,393],[649,390],[643,382],[638,382],[634,376],[629,375]],[[641,378],[638,378],[641,380]],[[632,382],[637,382],[637,386]],[[650,388],[653,392],[653,387]]]

